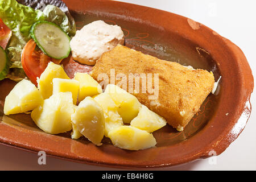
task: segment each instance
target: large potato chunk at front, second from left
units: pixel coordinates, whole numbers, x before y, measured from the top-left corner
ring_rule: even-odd
[[[72,130],[71,114],[74,113],[71,92],[53,94],[32,110],[31,118],[36,125],[49,134]]]

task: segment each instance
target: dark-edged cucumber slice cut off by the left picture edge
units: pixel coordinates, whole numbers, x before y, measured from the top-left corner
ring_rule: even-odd
[[[9,59],[5,50],[0,47],[0,80],[5,79],[6,75],[9,73]]]

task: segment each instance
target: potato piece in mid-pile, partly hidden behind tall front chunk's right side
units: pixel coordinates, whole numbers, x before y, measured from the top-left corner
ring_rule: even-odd
[[[123,125],[121,116],[118,114],[117,105],[108,93],[101,93],[94,97],[94,100],[100,104],[104,110],[105,117],[105,137],[108,137],[109,131]]]

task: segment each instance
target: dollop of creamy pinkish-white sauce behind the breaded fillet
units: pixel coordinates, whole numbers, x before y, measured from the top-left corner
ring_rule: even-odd
[[[70,42],[72,57],[81,64],[95,65],[102,53],[125,43],[121,27],[102,20],[86,24]]]

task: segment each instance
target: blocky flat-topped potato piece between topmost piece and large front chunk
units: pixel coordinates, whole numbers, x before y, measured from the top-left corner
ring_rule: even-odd
[[[63,78],[53,78],[52,83],[53,94],[59,92],[71,92],[73,97],[73,104],[76,105],[77,96],[79,93],[79,81]]]

